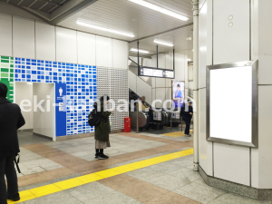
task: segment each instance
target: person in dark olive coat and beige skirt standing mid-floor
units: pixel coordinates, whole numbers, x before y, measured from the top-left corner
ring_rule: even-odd
[[[109,157],[104,155],[104,149],[111,147],[110,144],[110,115],[112,112],[105,111],[110,97],[104,95],[100,98],[99,116],[101,122],[95,127],[95,158],[99,160],[107,160]],[[105,110],[104,110],[105,107]]]

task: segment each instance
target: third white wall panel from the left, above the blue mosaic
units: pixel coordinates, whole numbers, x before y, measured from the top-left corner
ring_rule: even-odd
[[[56,61],[55,27],[44,23],[35,23],[36,59]]]

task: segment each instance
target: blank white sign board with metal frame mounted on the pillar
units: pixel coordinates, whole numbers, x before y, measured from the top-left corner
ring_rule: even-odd
[[[257,148],[257,62],[207,67],[207,140]]]

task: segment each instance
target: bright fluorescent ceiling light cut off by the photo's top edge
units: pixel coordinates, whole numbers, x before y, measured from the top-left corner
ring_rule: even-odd
[[[182,21],[187,21],[189,18],[184,16],[184,15],[179,15],[177,13],[174,13],[174,12],[171,12],[170,10],[167,10],[165,8],[162,8],[158,5],[153,5],[149,2],[145,2],[145,1],[142,1],[142,0],[129,0],[130,2],[133,2],[135,4],[138,4],[138,5],[142,5],[144,7],[147,7],[147,8],[150,8],[154,11],[157,11],[157,12],[160,12],[161,14],[164,14],[164,15],[170,15],[174,18],[178,18]]]

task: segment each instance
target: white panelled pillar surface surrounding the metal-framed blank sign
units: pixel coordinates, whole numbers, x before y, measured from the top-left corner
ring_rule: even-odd
[[[272,2],[200,0],[199,9],[199,165],[211,177],[272,189]],[[206,66],[249,60],[258,60],[258,148],[206,141]]]

